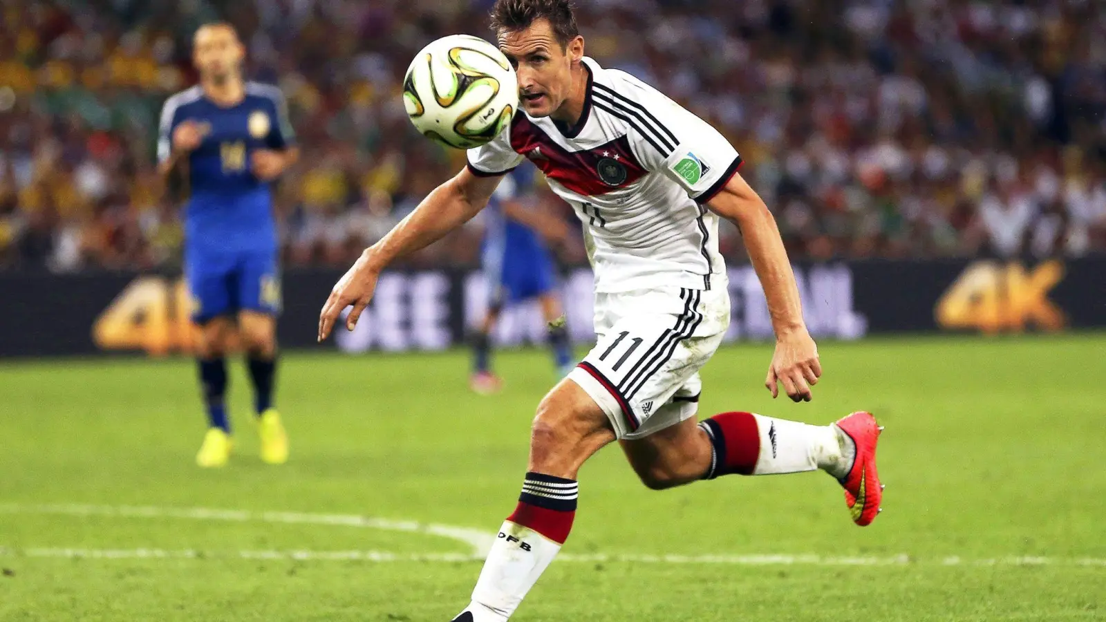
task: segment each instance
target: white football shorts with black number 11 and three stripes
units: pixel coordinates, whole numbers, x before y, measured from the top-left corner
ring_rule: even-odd
[[[710,290],[598,292],[598,342],[568,379],[603,408],[618,438],[648,436],[698,412],[699,370],[729,322],[724,282]]]

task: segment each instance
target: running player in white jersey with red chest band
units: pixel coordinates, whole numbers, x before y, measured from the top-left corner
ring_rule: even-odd
[[[827,426],[747,412],[696,421],[699,370],[730,319],[718,219],[737,225],[764,288],[776,342],[765,385],[810,401],[822,373],[775,221],[738,175],[741,157],[713,127],[650,86],[584,56],[568,0],[498,0],[492,25],[515,66],[522,112],[468,166],[365,250],[320,315],[353,329],[390,261],[472,218],[524,158],[583,221],[595,270],[598,343],[542,400],[514,512],[500,527],[455,622],[502,622],[553,561],[576,510],[576,474],[618,440],[654,489],[728,474],[823,469],[857,525],[879,511],[879,428],[853,413]]]

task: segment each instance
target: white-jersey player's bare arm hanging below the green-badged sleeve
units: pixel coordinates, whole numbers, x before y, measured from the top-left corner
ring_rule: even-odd
[[[783,384],[792,400],[810,402],[811,385],[822,375],[822,365],[817,346],[803,321],[799,287],[775,218],[740,175],[734,175],[708,206],[741,230],[753,269],[764,288],[776,340],[765,386],[772,397],[779,394],[779,384]]]

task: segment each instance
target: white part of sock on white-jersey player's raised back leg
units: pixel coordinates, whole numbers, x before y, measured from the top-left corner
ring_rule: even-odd
[[[824,469],[838,479],[848,474],[855,453],[836,425],[810,425],[753,414],[760,455],[753,475]]]

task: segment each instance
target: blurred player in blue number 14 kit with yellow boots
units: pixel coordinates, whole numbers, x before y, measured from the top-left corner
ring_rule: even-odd
[[[261,458],[288,459],[288,436],[273,408],[280,272],[270,183],[299,151],[280,91],[244,82],[246,50],[234,29],[196,31],[192,60],[200,84],[165,102],[158,139],[160,170],[180,179],[185,206],[185,279],[201,326],[196,344],[210,427],[196,462],[227,464],[228,339],[237,332],[253,384]]]

